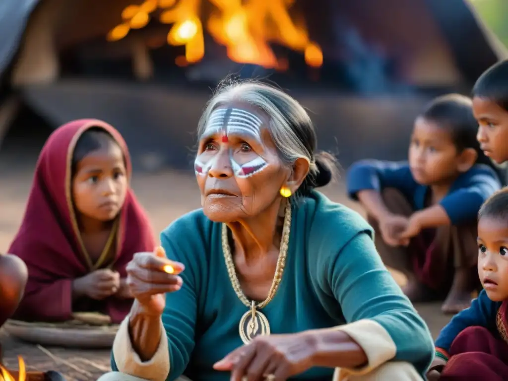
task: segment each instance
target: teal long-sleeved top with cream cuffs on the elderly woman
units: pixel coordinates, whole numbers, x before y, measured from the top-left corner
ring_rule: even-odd
[[[368,364],[361,371],[401,361],[423,376],[434,353],[430,332],[380,260],[371,227],[358,213],[317,192],[292,208],[282,281],[261,311],[270,332],[343,330],[367,354]],[[243,345],[238,324],[248,308],[228,276],[221,224],[198,210],[163,231],[161,241],[168,257],[183,263],[185,270],[180,275],[182,288],[166,296],[160,348],[152,360],[141,363],[132,350],[126,320],[113,346],[112,368],[156,380],[184,374],[227,381],[229,373],[212,366]],[[333,372],[314,367],[292,379],[329,381]]]

